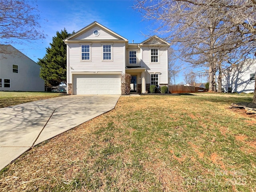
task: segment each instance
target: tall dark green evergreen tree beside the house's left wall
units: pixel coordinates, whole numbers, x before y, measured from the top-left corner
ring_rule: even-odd
[[[37,63],[41,66],[39,76],[45,81],[47,87],[58,86],[60,83],[66,84],[67,46],[63,40],[70,35],[65,28],[61,32],[57,31],[50,47],[46,48],[44,58],[38,58]]]

